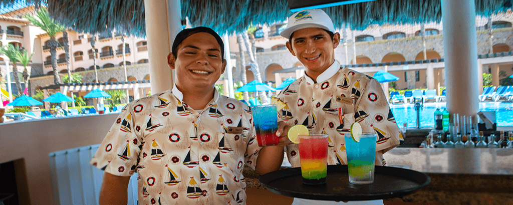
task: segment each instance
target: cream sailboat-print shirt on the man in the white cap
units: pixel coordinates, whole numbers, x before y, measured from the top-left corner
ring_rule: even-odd
[[[404,139],[378,81],[368,75],[341,68],[334,61],[317,78],[317,84],[304,75],[283,89],[278,98],[287,106],[279,112],[289,126],[305,125],[310,133],[326,133],[328,164],[347,164],[344,133],[353,122],[363,132],[376,132],[376,150],[384,152]],[[292,167],[300,167],[297,144],[286,146]]]

